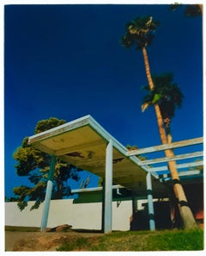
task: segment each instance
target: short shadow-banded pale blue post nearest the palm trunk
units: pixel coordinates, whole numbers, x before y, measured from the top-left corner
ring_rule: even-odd
[[[154,204],[153,204],[153,195],[152,195],[152,180],[151,173],[147,174],[147,194],[148,194],[148,218],[149,218],[149,228],[151,231],[155,230],[154,222]]]

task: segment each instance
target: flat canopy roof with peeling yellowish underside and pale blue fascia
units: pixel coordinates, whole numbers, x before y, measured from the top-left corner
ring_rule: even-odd
[[[92,116],[83,116],[56,128],[29,137],[28,143],[40,151],[105,177],[106,145],[113,144],[113,183],[146,194],[148,166],[140,166],[140,159],[127,156],[128,149],[109,134]],[[165,193],[163,184],[152,176],[154,193]]]

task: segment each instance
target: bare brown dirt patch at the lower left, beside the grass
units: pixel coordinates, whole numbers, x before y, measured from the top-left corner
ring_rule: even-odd
[[[100,233],[77,233],[70,232],[19,232],[5,231],[5,251],[6,252],[55,252],[56,248],[70,237],[91,237],[99,236]]]

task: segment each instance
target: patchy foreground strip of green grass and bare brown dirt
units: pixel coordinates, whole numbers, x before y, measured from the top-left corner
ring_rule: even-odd
[[[124,231],[112,234],[90,230],[41,233],[39,228],[6,227],[12,233],[27,232],[15,241],[15,251],[200,251],[203,250],[203,229]],[[94,232],[94,231],[93,231]]]

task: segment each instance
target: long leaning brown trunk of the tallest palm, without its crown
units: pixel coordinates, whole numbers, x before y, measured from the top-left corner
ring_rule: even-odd
[[[145,71],[146,71],[146,76],[148,78],[148,86],[150,90],[154,89],[154,84],[153,80],[151,77],[151,72],[149,68],[149,63],[148,63],[148,53],[146,50],[146,47],[142,47],[142,54],[143,54],[143,59],[144,59],[144,65],[145,65]],[[157,124],[161,136],[161,143],[162,144],[167,144],[167,134],[165,132],[162,116],[161,116],[161,109],[158,104],[154,105],[155,109],[155,114],[157,118]],[[171,139],[169,139],[171,140]],[[170,142],[170,141],[168,141]],[[173,149],[170,150],[165,150],[165,155],[166,157],[173,157]],[[195,221],[194,216],[192,215],[191,209],[188,206],[187,199],[185,197],[185,191],[183,189],[182,184],[180,183],[179,180],[179,173],[176,168],[176,161],[169,161],[168,162],[169,170],[171,173],[171,177],[173,179],[173,190],[175,193],[175,196],[177,197],[178,203],[179,203],[179,214],[181,215],[181,219],[184,224],[184,228],[197,228],[197,223]]]

